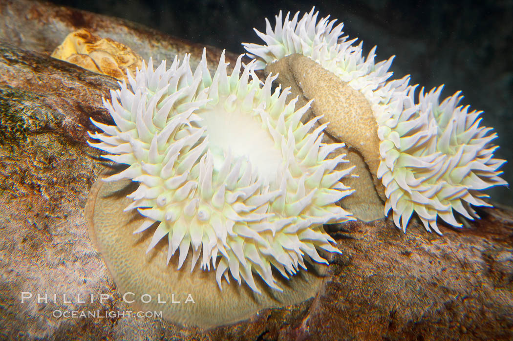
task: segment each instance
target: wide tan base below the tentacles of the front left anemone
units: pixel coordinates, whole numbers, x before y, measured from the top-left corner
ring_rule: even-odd
[[[208,329],[247,319],[262,309],[299,304],[318,293],[327,269],[323,264],[307,263],[309,271],[290,279],[274,273],[282,292],[271,290],[262,279],[256,278],[255,285],[262,294],[255,294],[248,286],[233,283],[221,291],[215,272],[198,268],[177,270],[176,258],[168,265],[164,241],[145,255],[151,231],[132,233],[144,217],[135,211],[123,212],[131,201],[126,194],[137,184],[130,180],[104,182],[101,178],[93,184],[86,205],[89,235],[118,289],[127,294],[126,302],[135,308],[162,311],[162,317],[174,324]],[[192,251],[189,251],[184,266],[190,268],[191,263]],[[150,302],[143,303],[150,297]]]

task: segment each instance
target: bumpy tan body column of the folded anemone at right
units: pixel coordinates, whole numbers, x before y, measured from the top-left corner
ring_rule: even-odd
[[[323,116],[318,122],[329,122],[326,138],[332,143],[343,141],[348,147],[343,152],[347,153],[351,165],[356,166],[352,173],[358,177],[347,178],[345,184],[358,191],[342,198],[342,207],[367,222],[382,218],[386,197],[376,176],[380,163],[378,125],[365,96],[298,53],[268,64],[265,72],[278,74],[277,81],[290,87],[304,103],[314,99],[307,119]]]

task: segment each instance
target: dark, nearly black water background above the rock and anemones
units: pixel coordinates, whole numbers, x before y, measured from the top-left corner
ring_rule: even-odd
[[[394,77],[411,74],[410,84],[431,89],[445,84],[442,97],[463,91],[461,104],[484,110],[483,124],[499,134],[496,157],[513,162],[513,0],[442,3],[438,1],[79,1],[55,4],[122,17],[195,43],[243,53],[241,42],[262,41],[264,18],[309,11],[331,14],[344,32],[364,41],[367,53],[378,46],[376,61],[396,55]],[[441,99],[443,99],[441,98]],[[513,165],[502,167],[513,182]],[[512,191],[493,189],[492,199],[513,206]]]

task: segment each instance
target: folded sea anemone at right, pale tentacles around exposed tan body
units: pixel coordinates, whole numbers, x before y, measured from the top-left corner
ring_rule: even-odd
[[[313,8],[301,19],[289,14],[282,20],[280,12],[274,29],[266,19],[266,33],[255,29],[266,45],[243,44],[248,55],[257,68],[280,72],[294,94],[314,99],[327,132],[362,155],[397,227],[406,231],[415,211],[426,230],[440,233],[437,216],[461,226],[453,210],[472,219],[469,204],[490,206],[481,190],[506,185],[498,171],[505,161],[493,158],[497,135],[479,127],[480,112],[456,107],[459,93],[439,104],[441,87],[422,90],[416,104],[409,77],[388,79],[392,58],[374,63],[375,47],[364,58],[361,43],[342,37],[343,24],[333,27],[329,16],[317,22]]]

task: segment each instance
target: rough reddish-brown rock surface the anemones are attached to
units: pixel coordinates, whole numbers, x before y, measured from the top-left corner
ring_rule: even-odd
[[[23,1],[0,1],[0,22],[15,21],[7,15],[18,3]],[[54,317],[55,310],[130,307],[94,249],[84,216],[88,192],[104,169],[85,143],[86,131],[93,129],[88,120],[109,122],[101,97],[117,85],[113,78],[50,58],[49,51],[83,26],[117,32],[110,37],[129,46],[133,37],[131,47],[144,57],[144,50],[153,49],[153,55],[166,58],[176,51],[198,58],[201,49],[184,43],[170,52],[166,49],[179,43],[145,35],[146,28],[33,4],[18,8],[18,20],[28,21],[27,27],[9,30],[0,24],[0,39],[11,42],[0,45],[0,338],[513,338],[509,208],[479,210],[482,219],[467,229],[442,227],[443,236],[417,224],[403,234],[385,219],[333,226],[329,231],[343,253],[331,259],[316,297],[230,326],[204,331],[153,318]],[[211,51],[215,61],[219,51]],[[33,297],[22,303],[22,292]],[[38,293],[48,294],[48,302],[37,303]],[[77,294],[86,303],[77,303]],[[100,302],[100,294],[109,298]]]

